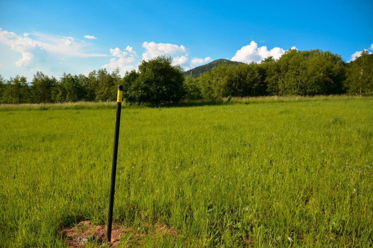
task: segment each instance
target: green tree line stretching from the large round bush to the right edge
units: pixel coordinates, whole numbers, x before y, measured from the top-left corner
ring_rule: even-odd
[[[288,50],[278,60],[267,57],[260,64],[219,64],[185,84],[190,98],[228,96],[330,95],[373,93],[373,54],[345,63],[330,51]]]

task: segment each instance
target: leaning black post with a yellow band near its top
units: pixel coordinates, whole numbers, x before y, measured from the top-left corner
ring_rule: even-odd
[[[122,93],[123,93],[123,85],[118,85],[117,111],[116,111],[116,117],[115,117],[114,149],[113,149],[113,162],[112,162],[112,180],[111,180],[111,183],[110,183],[109,215],[107,217],[106,240],[108,242],[110,242],[112,240],[114,189],[115,189],[116,161],[117,161],[117,155],[118,155],[120,109],[122,108]]]

